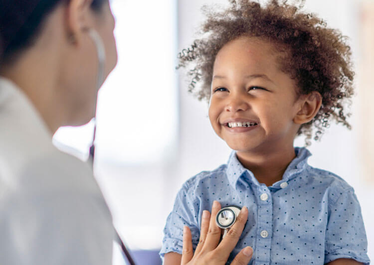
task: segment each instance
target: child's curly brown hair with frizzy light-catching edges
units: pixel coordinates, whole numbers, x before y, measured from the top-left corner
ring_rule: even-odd
[[[300,126],[297,135],[306,136],[306,145],[320,139],[331,121],[348,129],[350,116],[346,109],[354,94],[353,64],[347,37],[313,13],[301,11],[304,1],[291,5],[287,0],[270,0],[261,5],[251,0],[229,0],[224,10],[211,11],[206,6],[207,19],[201,35],[178,54],[177,69],[187,68],[191,78],[188,91],[199,100],[210,98],[210,86],[215,57],[229,41],[241,36],[264,38],[275,44],[282,54],[280,69],[296,81],[299,95],[317,91],[322,106],[309,123]],[[191,68],[190,65],[193,65]],[[201,83],[200,89],[197,84]]]

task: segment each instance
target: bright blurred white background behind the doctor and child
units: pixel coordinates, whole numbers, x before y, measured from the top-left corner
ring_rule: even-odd
[[[186,77],[175,70],[178,51],[191,44],[204,19],[201,6],[227,2],[111,1],[119,62],[99,93],[95,176],[128,247],[156,257],[149,265],[161,264],[156,253],[179,188],[196,173],[225,163],[230,153],[210,127],[207,103],[187,93]],[[309,163],[355,188],[373,258],[374,1],[306,0],[305,10],[349,36],[357,73],[353,130],[333,124],[309,147]],[[54,143],[85,160],[92,134],[92,123],[60,128]],[[117,248],[113,264],[124,264]]]

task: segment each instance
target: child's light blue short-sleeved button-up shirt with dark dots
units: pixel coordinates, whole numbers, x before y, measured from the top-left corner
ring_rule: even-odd
[[[296,157],[283,179],[267,187],[244,168],[233,151],[228,163],[187,180],[179,191],[164,229],[161,257],[182,254],[183,227],[195,248],[201,213],[217,200],[222,207],[246,206],[248,222],[228,263],[244,247],[254,254],[250,265],[325,264],[340,258],[369,264],[360,204],[342,178],[307,164],[311,153],[295,148]]]

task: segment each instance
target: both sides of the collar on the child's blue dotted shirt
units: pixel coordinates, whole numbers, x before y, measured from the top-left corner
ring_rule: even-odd
[[[296,157],[288,165],[286,171],[283,174],[282,180],[274,183],[273,188],[280,188],[282,182],[287,182],[290,179],[296,177],[297,174],[303,172],[307,168],[308,157],[311,156],[311,152],[305,147],[295,147]],[[253,173],[246,169],[238,160],[236,152],[232,151],[227,162],[226,169],[227,178],[229,183],[234,188],[236,187],[236,182],[241,176],[245,176],[249,182],[254,185],[259,186],[258,180],[254,177]]]

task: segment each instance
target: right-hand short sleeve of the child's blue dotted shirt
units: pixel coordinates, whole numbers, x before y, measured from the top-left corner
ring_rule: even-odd
[[[361,207],[352,188],[342,192],[329,207],[326,229],[325,264],[337,259],[353,259],[369,264]]]

